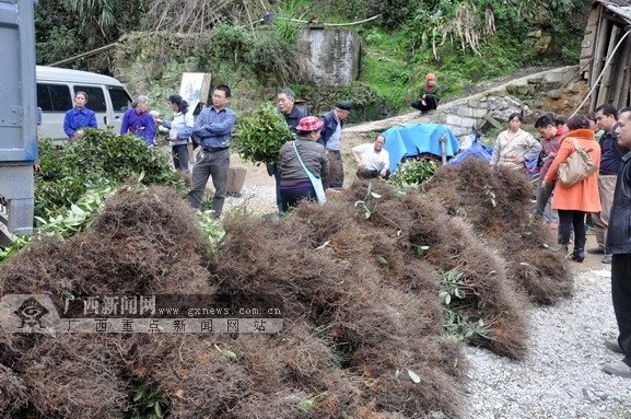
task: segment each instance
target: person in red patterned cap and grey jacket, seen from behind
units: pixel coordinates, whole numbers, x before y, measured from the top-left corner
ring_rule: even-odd
[[[305,167],[316,177],[322,177],[329,171],[325,148],[316,142],[320,138],[323,126],[324,123],[316,116],[302,118],[296,126],[296,139],[285,142],[280,149],[278,171],[283,212],[295,207],[302,199],[316,200],[315,189]]]

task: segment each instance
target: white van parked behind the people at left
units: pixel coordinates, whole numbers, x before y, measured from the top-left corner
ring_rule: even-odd
[[[66,112],[74,106],[74,93],[87,93],[89,109],[96,114],[96,125],[120,131],[122,115],[131,104],[131,96],[114,78],[87,71],[37,66],[37,107],[42,109],[40,138],[68,140],[63,132]]]

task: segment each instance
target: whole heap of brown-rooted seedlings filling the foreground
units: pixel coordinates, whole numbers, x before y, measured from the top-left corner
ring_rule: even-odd
[[[254,294],[279,333],[9,334],[0,416],[457,418],[463,342],[521,359],[525,307],[571,293],[531,185],[488,164],[425,190],[358,182],[280,220],[227,214],[217,247],[182,195],[121,189],[85,233],[31,243],[1,294]]]

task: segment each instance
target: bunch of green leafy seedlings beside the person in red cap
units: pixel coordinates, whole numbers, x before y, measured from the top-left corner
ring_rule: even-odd
[[[293,139],[284,117],[268,103],[238,118],[238,135],[232,140],[238,154],[253,163],[274,164],[282,144]]]

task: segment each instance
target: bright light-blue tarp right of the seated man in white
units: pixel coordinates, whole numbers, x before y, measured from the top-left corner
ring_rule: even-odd
[[[453,158],[459,143],[452,131],[439,124],[406,124],[397,125],[383,132],[386,139],[384,149],[390,154],[390,171],[395,172],[404,158],[412,158],[422,153],[437,156],[441,152],[441,137],[447,136],[445,149],[447,159]]]

